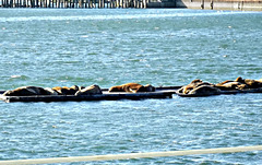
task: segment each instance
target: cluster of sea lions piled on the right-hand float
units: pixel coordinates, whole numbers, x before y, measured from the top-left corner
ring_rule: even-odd
[[[236,80],[227,80],[218,84],[203,82],[202,80],[193,80],[190,84],[182,86],[177,91],[177,94],[209,96],[218,95],[222,91],[243,91],[250,89],[262,87],[261,80],[242,79],[238,76]]]

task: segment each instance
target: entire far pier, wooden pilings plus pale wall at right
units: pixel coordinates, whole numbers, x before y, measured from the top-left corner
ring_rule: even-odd
[[[188,8],[202,10],[262,11],[262,3],[261,0],[0,0],[0,8]]]

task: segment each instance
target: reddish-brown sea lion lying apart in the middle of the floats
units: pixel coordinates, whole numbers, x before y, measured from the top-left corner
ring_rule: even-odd
[[[118,86],[111,86],[108,92],[129,92],[129,93],[136,93],[136,92],[154,92],[155,87],[151,84],[141,85],[138,83],[127,83]]]

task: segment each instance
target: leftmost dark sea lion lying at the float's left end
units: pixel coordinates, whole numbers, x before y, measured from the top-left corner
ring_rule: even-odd
[[[32,96],[52,95],[51,92],[38,86],[21,86],[12,91],[5,91],[3,96]]]

